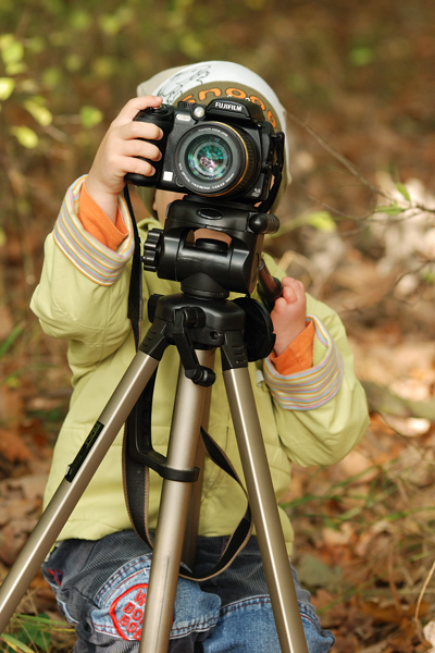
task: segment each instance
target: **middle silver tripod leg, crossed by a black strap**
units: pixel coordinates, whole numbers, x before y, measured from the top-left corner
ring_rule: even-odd
[[[201,365],[208,355],[200,352]],[[167,465],[174,469],[189,470],[195,466],[207,390],[186,379],[181,366],[166,456]],[[190,495],[191,483],[163,481],[140,653],[167,651]]]

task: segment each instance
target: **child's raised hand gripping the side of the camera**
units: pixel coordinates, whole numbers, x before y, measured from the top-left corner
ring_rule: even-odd
[[[133,119],[138,111],[148,107],[160,107],[161,103],[162,98],[154,96],[129,100],[110,125],[98,148],[86,180],[86,189],[113,222],[117,210],[117,195],[125,186],[126,173],[136,172],[146,176],[154,173],[150,163],[137,157],[152,161],[159,161],[161,158],[157,145],[139,140],[160,140],[163,136],[161,128],[152,123]]]

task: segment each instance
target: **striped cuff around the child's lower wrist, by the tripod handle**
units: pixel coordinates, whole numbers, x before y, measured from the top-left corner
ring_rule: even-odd
[[[312,410],[332,399],[340,389],[344,362],[338,347],[327,329],[313,316],[310,318],[315,326],[315,338],[325,347],[325,356],[319,365],[283,375],[275,370],[270,358],[264,360],[264,379],[282,408],[286,410]]]

